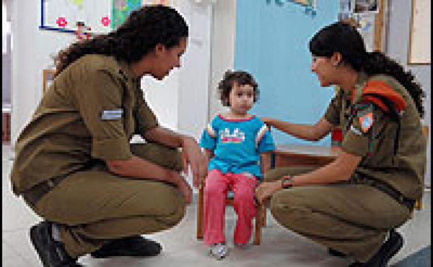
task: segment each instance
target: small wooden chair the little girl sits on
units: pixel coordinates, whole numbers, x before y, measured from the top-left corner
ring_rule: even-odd
[[[197,239],[203,239],[203,209],[204,209],[204,181],[200,185],[198,190],[198,201],[197,201]],[[233,191],[227,193],[227,198],[225,199],[225,204],[233,206]],[[261,226],[266,225],[266,208],[263,204],[257,207],[257,212],[255,215],[255,236],[254,245],[260,245],[260,235]]]

